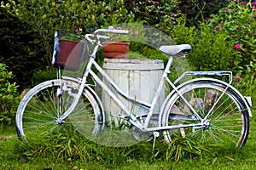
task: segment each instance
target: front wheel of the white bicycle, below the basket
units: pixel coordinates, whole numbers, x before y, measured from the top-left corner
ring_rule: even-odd
[[[61,95],[58,95],[60,88]],[[104,117],[88,88],[84,88],[78,105],[67,119],[60,120],[73,104],[78,88],[79,82],[64,79],[42,82],[32,88],[17,110],[15,125],[18,136],[26,139],[44,138],[61,132],[73,133],[73,127],[86,128],[88,135],[96,134],[102,127]]]

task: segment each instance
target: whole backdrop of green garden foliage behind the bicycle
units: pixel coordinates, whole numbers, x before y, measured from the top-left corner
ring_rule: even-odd
[[[127,22],[155,27],[177,43],[189,43],[190,70],[230,70],[241,77],[239,87],[255,88],[255,1],[5,0],[0,14],[0,61],[13,71],[20,90],[38,83],[33,73],[44,74],[51,65],[54,31],[81,28],[85,34]],[[137,51],[140,47],[132,44],[131,51],[153,58],[152,49]]]

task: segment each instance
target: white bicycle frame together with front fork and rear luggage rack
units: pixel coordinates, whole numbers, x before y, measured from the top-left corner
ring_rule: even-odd
[[[91,44],[94,44],[95,42],[91,42]],[[70,115],[70,113],[74,110],[74,108],[76,107],[80,96],[83,93],[84,87],[89,86],[89,84],[86,84],[86,79],[87,77],[90,75],[91,77],[93,77],[93,79],[96,81],[96,83],[114,100],[114,102],[119,105],[119,107],[121,108],[122,111],[125,112],[125,116],[119,116],[119,118],[123,118],[128,122],[131,122],[131,124],[135,127],[138,127],[141,131],[143,132],[154,132],[154,131],[162,131],[162,130],[169,130],[169,129],[176,129],[176,128],[182,128],[182,127],[207,127],[209,125],[209,122],[207,121],[207,117],[210,115],[211,111],[208,112],[207,116],[205,116],[204,118],[201,118],[201,116],[195,111],[195,109],[189,104],[189,101],[187,99],[185,99],[183,97],[182,94],[180,94],[180,92],[178,91],[177,87],[175,86],[175,84],[177,82],[179,82],[183,77],[185,77],[186,75],[197,75],[197,76],[228,76],[229,77],[229,83],[227,83],[227,87],[225,90],[227,90],[230,87],[230,83],[232,82],[231,77],[232,77],[232,73],[230,71],[187,71],[184,72],[182,76],[178,77],[177,80],[175,82],[172,82],[167,76],[170,73],[170,68],[172,65],[172,56],[168,59],[168,62],[166,64],[165,70],[162,74],[162,77],[160,78],[160,83],[156,89],[156,92],[154,94],[154,98],[151,104],[144,102],[142,100],[137,100],[132,98],[131,96],[129,96],[128,94],[125,94],[124,91],[121,90],[121,88],[119,88],[119,86],[113,82],[112,78],[108,76],[108,74],[102,70],[101,66],[98,65],[95,61],[96,59],[96,52],[98,50],[98,48],[102,46],[101,42],[99,40],[96,41],[96,45],[93,49],[92,54],[90,54],[90,59],[88,61],[88,64],[85,68],[84,71],[84,76],[82,78],[82,81],[80,83],[80,88],[79,88],[79,92],[76,95],[75,100],[73,101],[73,105],[71,105],[69,107],[69,109],[61,116],[60,121],[63,121],[67,118],[67,116]],[[131,114],[131,111],[128,110],[128,107],[115,95],[113,94],[113,92],[110,90],[110,88],[108,88],[108,86],[102,82],[101,78],[99,78],[94,71],[91,70],[91,67],[94,66],[96,68],[97,71],[99,71],[99,73],[102,75],[102,77],[104,78],[105,81],[107,81],[108,83],[110,83],[111,87],[118,92],[118,94],[120,94],[121,96],[125,97],[125,99],[128,99],[134,103],[136,103],[137,105],[141,105],[143,107],[148,108],[148,114],[146,115],[146,119],[144,120],[144,122],[142,122],[141,120],[139,120],[137,118],[137,116],[134,116]],[[165,126],[162,127],[159,125],[159,127],[149,127],[149,123],[152,119],[153,116],[153,111],[160,99],[160,92],[161,90],[164,88],[165,83],[168,82],[168,84],[171,86],[172,88],[172,92],[175,92],[179,95],[179,97],[183,100],[184,104],[188,106],[189,110],[191,111],[191,113],[193,113],[193,117],[190,117],[189,119],[191,120],[195,120],[197,121],[197,123],[193,123],[193,124],[186,124],[186,125],[172,125],[172,126]],[[172,93],[171,92],[171,93]],[[224,91],[225,92],[225,91]],[[223,92],[223,94],[224,94]],[[220,98],[219,98],[220,99]],[[213,108],[213,107],[212,107]]]

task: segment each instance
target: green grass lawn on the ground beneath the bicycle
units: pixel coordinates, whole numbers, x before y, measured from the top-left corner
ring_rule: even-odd
[[[253,112],[254,113],[254,112]],[[255,114],[253,114],[255,116]],[[94,144],[78,133],[56,134],[34,143],[20,143],[14,126],[0,126],[1,169],[256,169],[256,121],[251,119],[247,144],[242,149],[200,147],[166,161],[168,145],[158,139],[130,147]],[[183,141],[179,141],[182,146]],[[183,143],[184,144],[184,143]],[[173,147],[172,147],[173,148]],[[195,152],[201,150],[201,153]],[[70,158],[70,159],[69,159]]]

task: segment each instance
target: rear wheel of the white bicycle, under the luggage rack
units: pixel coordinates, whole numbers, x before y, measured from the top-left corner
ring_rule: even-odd
[[[221,144],[241,147],[249,132],[248,109],[235,88],[212,79],[181,85],[183,95],[201,118],[209,122],[205,127],[178,128],[164,131],[167,142],[173,137],[183,136],[202,144]],[[199,121],[177,93],[166,103],[162,126],[188,125]]]

